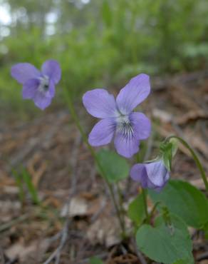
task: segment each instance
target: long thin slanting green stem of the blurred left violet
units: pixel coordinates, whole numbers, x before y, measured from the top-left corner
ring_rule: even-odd
[[[124,224],[124,220],[122,219],[122,217],[120,215],[120,209],[118,207],[118,204],[116,203],[116,200],[115,200],[115,194],[113,192],[113,186],[109,183],[107,177],[105,176],[105,171],[103,170],[103,167],[101,166],[100,161],[98,159],[98,156],[96,155],[94,149],[88,143],[88,137],[85,135],[85,132],[83,131],[82,126],[80,125],[80,121],[79,121],[79,118],[78,118],[78,116],[76,114],[75,108],[73,107],[73,103],[71,101],[71,94],[68,91],[66,91],[66,93],[67,93],[66,94],[66,99],[67,99],[69,111],[71,113],[71,117],[73,118],[74,123],[76,123],[76,126],[77,126],[78,130],[80,131],[80,134],[81,134],[81,136],[83,138],[83,141],[85,142],[85,144],[88,147],[91,155],[95,159],[95,163],[97,164],[98,168],[100,169],[100,172],[103,175],[103,178],[105,179],[105,183],[108,186],[108,189],[110,191],[110,196],[111,196],[111,198],[113,200],[113,205],[115,207],[115,212],[116,212],[116,215],[118,217],[118,221],[120,223],[120,228],[122,230],[123,237],[125,238],[125,236],[126,236],[126,233],[125,233],[125,224]]]

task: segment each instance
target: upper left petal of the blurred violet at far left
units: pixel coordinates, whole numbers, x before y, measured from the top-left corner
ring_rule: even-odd
[[[38,78],[41,76],[40,71],[32,64],[23,63],[16,64],[11,67],[11,76],[19,83],[26,83],[31,78]]]

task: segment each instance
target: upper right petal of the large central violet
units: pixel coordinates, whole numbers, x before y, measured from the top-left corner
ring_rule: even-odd
[[[116,98],[118,108],[121,113],[130,113],[139,103],[145,100],[150,93],[150,78],[142,73],[130,80],[130,82],[120,90]]]

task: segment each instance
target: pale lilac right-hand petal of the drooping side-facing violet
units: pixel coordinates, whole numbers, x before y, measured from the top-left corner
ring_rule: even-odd
[[[155,187],[163,187],[170,177],[162,161],[147,163],[145,168],[148,179]]]

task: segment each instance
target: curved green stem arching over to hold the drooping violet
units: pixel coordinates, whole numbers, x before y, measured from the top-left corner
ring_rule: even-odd
[[[195,151],[193,150],[193,148],[191,146],[189,146],[189,144],[184,141],[184,139],[180,138],[179,136],[169,136],[165,139],[165,141],[170,141],[171,138],[176,138],[178,141],[180,141],[180,143],[182,143],[192,154],[192,157],[194,158],[194,161],[197,165],[197,167],[199,168],[199,171],[201,173],[202,176],[202,180],[204,181],[204,186],[206,187],[207,193],[208,193],[208,181],[207,181],[207,177],[204,171],[204,168],[202,166],[202,163],[199,161],[199,158],[197,157],[197,154],[195,153]]]

